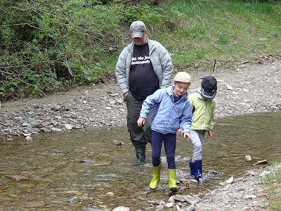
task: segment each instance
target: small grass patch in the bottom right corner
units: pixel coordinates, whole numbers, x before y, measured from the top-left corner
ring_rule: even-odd
[[[273,165],[273,167],[276,165]],[[275,170],[262,179],[268,189],[268,199],[270,203],[267,205],[268,210],[281,210],[281,169],[275,167]]]

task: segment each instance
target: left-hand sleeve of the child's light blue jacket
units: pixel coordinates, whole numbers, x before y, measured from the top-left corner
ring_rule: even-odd
[[[150,108],[162,101],[164,91],[162,89],[158,89],[155,91],[154,94],[151,94],[148,96],[145,101],[143,101],[143,105],[141,106],[141,112],[140,117],[143,117],[146,119],[148,117],[148,114],[150,112]]]

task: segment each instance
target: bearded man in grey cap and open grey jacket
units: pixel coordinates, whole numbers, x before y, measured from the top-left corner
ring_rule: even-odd
[[[136,148],[133,165],[145,162],[145,146],[151,143],[151,122],[155,108],[150,110],[145,125],[138,127],[141,106],[147,96],[171,83],[173,63],[168,51],[158,41],[147,37],[148,30],[141,20],[130,26],[133,41],[119,55],[115,74],[127,107],[127,127]]]

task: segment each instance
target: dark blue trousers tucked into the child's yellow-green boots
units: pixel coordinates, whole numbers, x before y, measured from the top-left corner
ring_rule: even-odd
[[[161,134],[152,130],[152,165],[158,167],[160,165],[160,156],[162,142],[164,141],[164,149],[168,169],[176,169],[175,151],[176,151],[176,134]]]

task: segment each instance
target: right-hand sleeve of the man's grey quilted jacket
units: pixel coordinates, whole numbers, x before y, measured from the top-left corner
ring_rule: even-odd
[[[163,70],[163,79],[161,88],[165,87],[166,85],[171,84],[171,78],[173,75],[174,65],[171,60],[171,56],[169,55],[168,51],[164,48],[164,46],[160,45],[160,63],[162,65]]]

